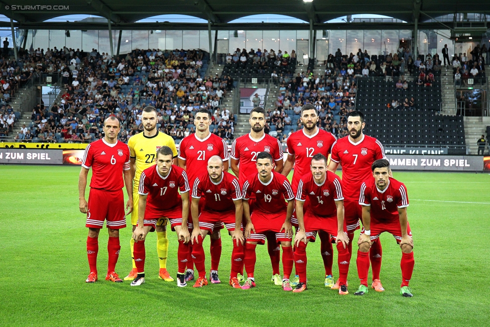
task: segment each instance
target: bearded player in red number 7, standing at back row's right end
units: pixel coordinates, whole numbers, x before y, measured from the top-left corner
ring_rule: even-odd
[[[386,159],[385,149],[380,141],[364,135],[364,115],[353,111],[347,115],[349,135],[337,140],[332,146],[328,170],[335,172],[338,165],[342,166],[342,184],[344,186],[345,223],[349,237],[349,253],[352,255],[352,240],[354,231],[359,229],[362,219],[362,209],[359,205],[359,189],[362,182],[372,177],[371,165],[378,159]],[[379,292],[384,291],[380,281],[381,271],[381,242],[373,243],[370,251],[373,268],[372,287]],[[338,281],[332,287],[338,288]]]

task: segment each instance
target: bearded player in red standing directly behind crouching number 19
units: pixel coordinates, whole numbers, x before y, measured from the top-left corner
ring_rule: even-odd
[[[231,145],[231,170],[238,176],[238,182],[243,187],[243,183],[251,174],[257,174],[257,155],[263,151],[271,154],[276,167],[274,171],[280,173],[284,165],[284,153],[281,142],[278,139],[265,134],[264,125],[266,124],[266,112],[262,107],[255,107],[250,112],[249,118],[250,133],[240,136]],[[253,211],[255,195],[249,201],[250,209]],[[276,236],[271,233],[267,235],[267,250],[272,263],[272,281],[276,285],[282,285],[281,275],[279,274],[279,261],[281,251],[276,242]],[[241,275],[240,275],[241,276]],[[240,277],[239,276],[239,277]]]

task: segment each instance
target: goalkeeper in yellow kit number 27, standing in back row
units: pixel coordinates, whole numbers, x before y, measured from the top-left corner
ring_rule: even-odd
[[[138,224],[138,203],[140,195],[138,187],[140,185],[141,173],[155,164],[155,156],[157,150],[163,146],[172,149],[174,158],[177,156],[177,149],[174,140],[165,133],[161,133],[157,129],[157,110],[153,106],[147,106],[142,112],[143,133],[136,134],[128,141],[128,146],[131,152],[131,174],[133,176],[133,212],[131,214],[131,225],[133,232]],[[165,217],[157,221],[157,254],[160,272],[158,278],[171,282],[174,279],[170,277],[167,271],[167,221]],[[133,269],[124,280],[135,280],[138,276],[138,270],[135,263],[135,240],[131,238],[131,257],[133,258]]]

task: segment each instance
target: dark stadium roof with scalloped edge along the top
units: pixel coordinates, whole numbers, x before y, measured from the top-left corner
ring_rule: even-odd
[[[313,0],[312,2],[303,0],[174,0],[162,2],[154,0],[139,0],[138,2],[54,0],[49,2],[50,8],[43,8],[40,3],[38,0],[0,0],[0,14],[17,21],[16,27],[24,28],[35,28],[40,26],[35,23],[73,14],[102,16],[110,19],[114,24],[120,24],[122,28],[125,25],[130,27],[131,23],[144,18],[166,14],[195,16],[210,20],[214,26],[219,27],[234,19],[257,14],[286,15],[320,26],[331,19],[354,14],[386,15],[410,24],[414,23],[416,18],[423,22],[429,20],[430,17],[454,13],[490,13],[490,1],[488,0],[447,0],[444,2],[440,0],[376,0],[372,2],[359,0]],[[55,9],[55,6],[58,7]],[[63,24],[65,28],[68,26],[72,28],[72,23],[44,24],[57,24],[60,27]]]

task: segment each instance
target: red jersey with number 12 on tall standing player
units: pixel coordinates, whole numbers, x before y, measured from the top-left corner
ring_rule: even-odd
[[[310,172],[311,158],[317,153],[321,153],[328,158],[335,141],[337,141],[337,138],[332,133],[319,128],[312,136],[306,135],[303,128],[288,137],[288,154],[295,157],[291,183],[295,192],[298,189],[298,182],[301,177]]]

